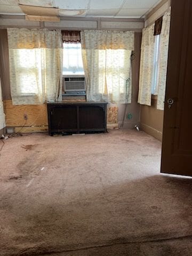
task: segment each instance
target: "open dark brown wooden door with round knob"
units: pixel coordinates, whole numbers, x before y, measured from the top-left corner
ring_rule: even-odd
[[[192,1],[171,5],[161,172],[192,175]]]

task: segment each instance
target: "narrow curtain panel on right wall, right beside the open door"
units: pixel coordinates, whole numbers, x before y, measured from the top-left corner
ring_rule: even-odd
[[[160,60],[159,60],[159,82],[158,82],[158,96],[157,109],[164,110],[165,87],[166,87],[166,73],[167,73],[167,59],[169,50],[169,34],[170,34],[170,19],[171,11],[163,16],[161,41],[160,41]]]

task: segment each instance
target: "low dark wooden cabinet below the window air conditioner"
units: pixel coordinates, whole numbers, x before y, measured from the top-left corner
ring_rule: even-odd
[[[47,103],[49,134],[107,132],[107,102]]]

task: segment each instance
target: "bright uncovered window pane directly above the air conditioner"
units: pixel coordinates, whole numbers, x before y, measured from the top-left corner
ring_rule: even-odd
[[[63,43],[63,75],[84,75],[81,43]]]

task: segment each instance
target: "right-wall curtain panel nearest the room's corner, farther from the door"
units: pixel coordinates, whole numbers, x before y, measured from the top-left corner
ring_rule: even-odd
[[[154,67],[154,24],[143,28],[139,74],[138,103],[151,106],[151,83]]]

